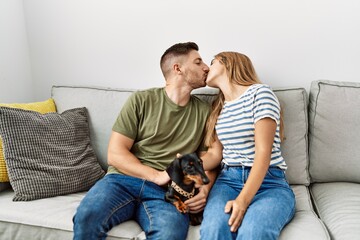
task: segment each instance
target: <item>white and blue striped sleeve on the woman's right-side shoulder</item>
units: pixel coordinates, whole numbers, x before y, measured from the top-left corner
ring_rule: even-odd
[[[280,104],[275,93],[268,87],[260,87],[254,97],[254,123],[263,118],[271,118],[279,123]]]

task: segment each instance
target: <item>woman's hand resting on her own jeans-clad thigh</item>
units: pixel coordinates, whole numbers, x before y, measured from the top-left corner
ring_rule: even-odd
[[[248,204],[239,197],[226,203],[225,213],[231,212],[228,222],[231,232],[236,232],[238,230],[247,208]]]

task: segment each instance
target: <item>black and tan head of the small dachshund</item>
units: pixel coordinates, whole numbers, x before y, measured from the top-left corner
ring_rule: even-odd
[[[195,153],[178,155],[167,169],[172,180],[182,178],[184,184],[194,182],[197,185],[208,184],[202,160]]]

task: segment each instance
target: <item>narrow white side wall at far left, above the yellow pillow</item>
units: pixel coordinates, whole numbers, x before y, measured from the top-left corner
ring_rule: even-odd
[[[0,0],[0,103],[28,102],[34,90],[22,0]]]

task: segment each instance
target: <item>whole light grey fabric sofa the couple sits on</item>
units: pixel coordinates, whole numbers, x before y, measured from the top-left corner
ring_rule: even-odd
[[[134,90],[53,86],[57,111],[86,107],[91,143],[107,168],[112,124]],[[314,81],[304,88],[274,89],[284,109],[283,155],[287,179],[296,195],[294,219],[281,232],[289,239],[360,238],[360,83]],[[193,92],[212,101],[217,91]],[[72,217],[85,192],[12,201],[11,189],[0,192],[0,239],[72,239]],[[109,232],[108,239],[145,239],[134,221]],[[199,239],[199,226],[188,239]]]

